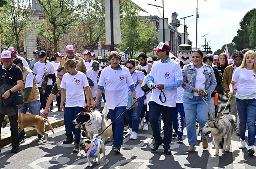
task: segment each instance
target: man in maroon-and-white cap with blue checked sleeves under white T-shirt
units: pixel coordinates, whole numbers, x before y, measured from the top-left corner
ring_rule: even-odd
[[[153,88],[149,99],[150,124],[155,142],[151,151],[156,151],[163,143],[164,153],[172,154],[170,143],[172,142],[172,116],[176,107],[177,88],[182,84],[180,65],[169,58],[170,46],[166,43],[159,43],[156,48],[158,61],[153,63],[147,79],[147,86]],[[162,110],[165,132],[163,139],[160,135],[158,118]]]

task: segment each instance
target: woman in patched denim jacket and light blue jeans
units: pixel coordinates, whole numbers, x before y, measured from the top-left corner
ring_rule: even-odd
[[[196,119],[201,127],[207,122],[209,112],[207,104],[210,105],[210,95],[217,84],[212,67],[202,61],[202,51],[195,50],[192,52],[192,63],[186,64],[182,70],[183,84],[181,87],[184,88],[183,105],[187,124],[188,152],[195,151]],[[208,148],[207,137],[202,133],[201,137],[203,148]]]

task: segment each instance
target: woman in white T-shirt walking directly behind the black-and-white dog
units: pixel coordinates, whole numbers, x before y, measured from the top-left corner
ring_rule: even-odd
[[[65,124],[70,127],[73,134],[75,134],[74,152],[79,152],[81,128],[78,127],[78,125],[74,125],[72,121],[76,118],[78,113],[84,111],[86,106],[90,106],[90,89],[86,75],[76,70],[76,64],[74,59],[68,59],[67,62],[64,63],[64,67],[67,69],[68,74],[66,73],[63,75],[60,84],[60,87],[63,89],[61,90],[60,109],[63,110],[63,101],[66,96],[64,121]],[[84,91],[87,99],[86,104]]]

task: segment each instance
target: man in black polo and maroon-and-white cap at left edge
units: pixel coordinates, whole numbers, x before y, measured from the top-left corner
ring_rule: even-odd
[[[22,88],[23,74],[19,66],[12,63],[13,55],[10,51],[3,51],[1,54],[0,61],[0,86],[5,83],[11,87],[9,90],[1,93],[0,102],[3,103],[2,99],[7,99],[10,95]],[[5,76],[3,76],[5,75]],[[4,82],[4,79],[6,82]],[[11,126],[11,138],[12,138],[12,150],[11,153],[19,152],[19,127],[18,127],[18,106],[7,106],[0,105],[0,124],[4,120],[4,116],[7,115]],[[1,128],[0,128],[1,137]],[[0,150],[1,152],[1,150]]]

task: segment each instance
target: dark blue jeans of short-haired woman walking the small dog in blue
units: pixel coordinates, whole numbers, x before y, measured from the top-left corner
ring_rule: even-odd
[[[110,119],[113,122],[120,114],[122,114],[126,109],[126,106],[116,107],[114,110],[109,109]],[[114,145],[122,145],[124,137],[124,114],[119,117],[112,124]]]

